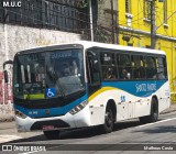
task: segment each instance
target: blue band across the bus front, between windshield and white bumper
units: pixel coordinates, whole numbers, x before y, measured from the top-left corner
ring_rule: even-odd
[[[62,116],[66,114],[69,112],[74,107],[79,105],[80,102],[85,101],[88,99],[88,96],[85,95],[84,97],[70,102],[69,105],[66,105],[64,107],[57,107],[57,108],[50,108],[50,117],[56,117],[56,116]],[[31,117],[31,118],[47,118],[46,116],[46,110],[47,109],[25,109],[22,108],[18,105],[13,105],[14,109],[23,112],[25,116]]]

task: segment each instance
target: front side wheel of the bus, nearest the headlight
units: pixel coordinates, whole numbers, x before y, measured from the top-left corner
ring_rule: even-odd
[[[103,133],[112,132],[113,125],[114,125],[113,112],[112,112],[112,109],[108,107],[106,109],[105,124],[102,125]]]

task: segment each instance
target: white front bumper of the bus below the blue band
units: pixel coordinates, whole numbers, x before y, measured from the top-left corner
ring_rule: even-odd
[[[22,119],[15,117],[18,132],[45,131],[45,130],[65,130],[74,128],[90,127],[89,107],[86,106],[76,114],[67,112],[62,117],[32,119],[26,117]]]

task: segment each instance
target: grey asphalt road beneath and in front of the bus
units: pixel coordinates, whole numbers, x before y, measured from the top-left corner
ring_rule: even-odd
[[[8,128],[8,124],[4,128]],[[15,134],[14,128],[9,125],[9,130],[1,131]],[[22,139],[6,143],[6,145],[23,144],[31,145],[46,152],[11,152],[11,153],[175,153],[176,152],[176,112],[162,114],[158,122],[141,124],[138,119],[119,122],[114,125],[114,131],[109,134],[101,134],[98,129],[79,129],[64,131],[59,140],[46,140],[42,133],[22,133]],[[174,144],[175,143],[175,144]],[[3,143],[4,144],[4,143]],[[75,144],[75,145],[70,145]],[[42,147],[40,147],[42,146]],[[18,150],[18,148],[16,148]],[[9,153],[9,152],[3,152]]]

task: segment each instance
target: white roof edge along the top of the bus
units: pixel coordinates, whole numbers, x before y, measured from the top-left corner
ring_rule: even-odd
[[[56,46],[59,46],[59,45],[74,45],[74,44],[82,45],[85,50],[90,48],[90,47],[101,47],[101,48],[108,48],[108,50],[122,50],[122,51],[129,51],[129,52],[165,55],[165,52],[157,51],[157,50],[133,47],[133,46],[122,46],[122,45],[117,45],[117,44],[107,44],[107,43],[98,43],[98,42],[90,42],[90,41],[77,41],[77,42],[73,42],[73,43],[51,44],[51,45],[37,46],[37,47],[29,48],[29,50],[23,50],[23,51],[18,52],[18,53],[23,53],[23,52],[26,52],[26,51],[40,50],[40,48],[45,48],[45,47],[54,47],[54,46],[56,47]]]

